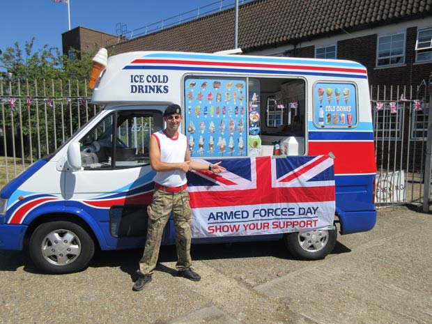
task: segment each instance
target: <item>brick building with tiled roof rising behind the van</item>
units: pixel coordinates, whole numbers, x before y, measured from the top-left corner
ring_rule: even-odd
[[[432,72],[432,0],[256,0],[239,7],[245,54],[350,59],[371,84],[421,84]],[[109,45],[217,52],[234,45],[235,8]],[[112,42],[110,43],[112,44]]]

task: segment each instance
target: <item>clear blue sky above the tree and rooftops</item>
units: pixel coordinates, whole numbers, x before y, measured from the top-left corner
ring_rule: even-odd
[[[65,0],[66,1],[66,0]],[[173,16],[201,8],[219,8],[218,0],[69,0],[70,28],[82,26],[116,35],[116,25],[132,31],[146,24],[167,20]],[[223,6],[235,0],[223,0]],[[241,1],[239,1],[241,3]],[[213,3],[213,4],[212,4]],[[211,6],[208,6],[211,5]],[[68,4],[53,0],[1,0],[0,50],[18,42],[36,38],[33,52],[44,45],[58,47],[62,52],[61,34],[68,31]],[[194,15],[189,13],[188,15]],[[185,15],[183,15],[184,17]],[[171,20],[172,22],[172,20]],[[141,29],[144,31],[144,29]]]

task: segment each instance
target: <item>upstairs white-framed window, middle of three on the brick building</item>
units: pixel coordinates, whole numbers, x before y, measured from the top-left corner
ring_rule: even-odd
[[[405,62],[405,34],[397,33],[378,38],[377,66],[400,65]]]

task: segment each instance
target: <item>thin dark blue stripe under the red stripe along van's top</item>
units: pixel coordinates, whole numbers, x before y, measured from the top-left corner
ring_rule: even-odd
[[[123,70],[181,70],[199,72],[237,72],[237,73],[256,73],[268,75],[319,75],[323,77],[351,77],[355,79],[367,79],[367,75],[353,75],[347,73],[328,73],[328,72],[306,72],[290,70],[256,70],[248,68],[201,68],[194,66],[169,66],[169,65],[126,65]]]

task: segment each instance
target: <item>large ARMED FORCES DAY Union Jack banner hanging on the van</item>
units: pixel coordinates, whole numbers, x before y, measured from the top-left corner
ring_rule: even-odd
[[[281,219],[287,222],[316,219],[316,228],[332,224],[335,192],[334,166],[330,156],[252,157],[223,160],[222,165],[226,171],[219,174],[210,171],[187,173],[187,189],[194,215],[193,237],[222,236],[209,230],[210,226],[216,225],[242,224],[233,233],[223,233],[223,236],[229,236],[263,234],[262,231],[250,231],[243,224],[279,222]],[[314,213],[302,214],[302,210],[308,208]],[[285,215],[282,211],[280,214],[281,210],[290,212]],[[225,218],[212,219],[215,213],[220,217],[225,215]],[[263,216],[266,213],[270,213],[268,217]],[[242,219],[233,215],[242,215]],[[300,229],[292,227],[270,232]]]

